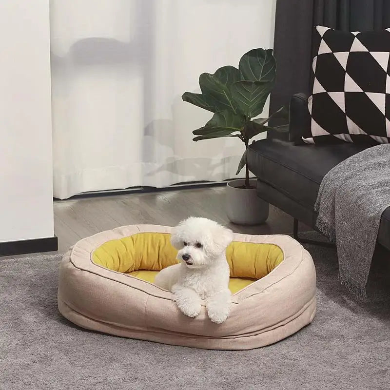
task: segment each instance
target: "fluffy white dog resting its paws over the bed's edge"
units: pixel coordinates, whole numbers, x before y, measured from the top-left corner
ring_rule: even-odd
[[[156,275],[155,284],[174,293],[179,310],[196,317],[205,301],[211,321],[221,324],[230,313],[229,264],[226,248],[232,242],[231,230],[207,218],[181,221],[171,236],[181,261]]]

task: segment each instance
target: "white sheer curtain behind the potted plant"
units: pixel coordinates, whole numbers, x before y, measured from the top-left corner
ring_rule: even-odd
[[[51,0],[54,196],[234,177],[235,138],[192,141],[198,76],[272,47],[275,0]]]

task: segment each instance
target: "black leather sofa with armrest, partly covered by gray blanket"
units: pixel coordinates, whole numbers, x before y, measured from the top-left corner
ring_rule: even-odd
[[[294,95],[288,139],[269,134],[267,139],[253,142],[248,151],[248,167],[258,179],[258,196],[292,215],[298,239],[298,221],[315,229],[314,203],[323,177],[341,161],[369,147],[347,142],[303,144],[301,137],[308,126],[307,98]],[[382,215],[377,242],[390,250],[390,208]]]

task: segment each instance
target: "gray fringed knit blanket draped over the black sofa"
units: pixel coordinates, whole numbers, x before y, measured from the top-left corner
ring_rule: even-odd
[[[368,148],[335,166],[322,180],[314,209],[317,229],[336,242],[339,278],[367,300],[379,223],[390,206],[390,145]]]

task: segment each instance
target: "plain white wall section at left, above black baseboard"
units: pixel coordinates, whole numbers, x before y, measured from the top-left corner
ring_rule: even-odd
[[[53,231],[49,0],[0,1],[0,242]]]

